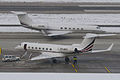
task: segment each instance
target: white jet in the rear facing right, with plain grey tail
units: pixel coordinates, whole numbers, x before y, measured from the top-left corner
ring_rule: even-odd
[[[36,24],[26,12],[15,12],[12,13],[18,16],[20,23],[23,27],[41,31],[44,36],[58,36],[64,35],[76,31],[102,31],[97,25],[64,25],[63,26],[55,26],[55,25],[46,25],[46,24]]]

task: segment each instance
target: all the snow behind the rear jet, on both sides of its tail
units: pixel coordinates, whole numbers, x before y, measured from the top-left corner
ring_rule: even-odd
[[[120,14],[29,14],[36,24],[48,26],[120,25]],[[20,24],[14,14],[0,14],[0,25]],[[107,32],[120,32],[120,28],[102,28]],[[0,32],[37,32],[22,27],[0,27]]]

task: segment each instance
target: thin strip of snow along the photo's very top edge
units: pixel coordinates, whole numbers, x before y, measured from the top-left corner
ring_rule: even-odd
[[[0,0],[1,2],[120,2],[120,0]]]

